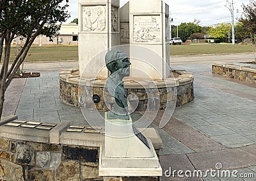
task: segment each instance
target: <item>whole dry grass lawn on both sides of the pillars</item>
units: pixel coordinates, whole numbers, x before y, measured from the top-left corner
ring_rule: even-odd
[[[17,49],[12,47],[10,62],[15,58]],[[233,54],[253,52],[252,45],[232,44],[194,44],[194,45],[171,45],[171,56],[188,56],[200,54]],[[77,45],[52,45],[33,46],[28,52],[25,62],[29,61],[60,61],[78,60]]]

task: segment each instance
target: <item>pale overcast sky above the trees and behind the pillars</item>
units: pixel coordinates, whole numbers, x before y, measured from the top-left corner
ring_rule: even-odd
[[[120,0],[120,6],[127,3],[128,0]],[[137,0],[140,1],[140,0]],[[154,0],[157,1],[157,0]],[[227,2],[229,1],[229,3]],[[241,5],[249,4],[250,0],[233,0],[234,1],[234,15],[235,21],[237,17],[241,17],[243,12]],[[70,0],[68,11],[70,12],[71,22],[77,18],[78,0]],[[194,19],[200,20],[200,26],[212,26],[221,22],[231,22],[231,13],[228,7],[232,0],[208,0],[208,1],[193,1],[193,0],[164,0],[170,7],[171,17],[173,18],[173,25],[181,22],[193,22]]]

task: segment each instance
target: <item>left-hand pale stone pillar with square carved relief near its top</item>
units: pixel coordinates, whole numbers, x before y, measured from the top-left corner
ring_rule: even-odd
[[[119,0],[79,0],[80,77],[108,77],[104,56],[109,48],[120,44],[118,17]]]

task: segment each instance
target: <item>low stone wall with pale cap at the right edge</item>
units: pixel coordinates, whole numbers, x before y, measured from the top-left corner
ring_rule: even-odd
[[[256,83],[256,68],[250,64],[214,63],[212,64],[212,73],[239,81]]]

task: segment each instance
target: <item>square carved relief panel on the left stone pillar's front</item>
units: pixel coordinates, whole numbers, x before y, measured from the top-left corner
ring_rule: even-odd
[[[83,31],[106,31],[106,6],[83,6]]]

